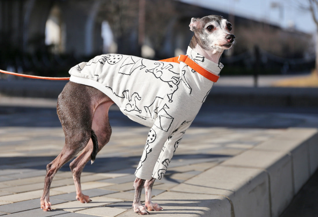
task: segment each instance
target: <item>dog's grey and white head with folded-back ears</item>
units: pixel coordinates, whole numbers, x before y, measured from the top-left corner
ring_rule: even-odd
[[[204,50],[223,51],[230,49],[234,43],[235,36],[230,33],[232,24],[224,17],[210,15],[202,18],[192,18],[189,26],[190,30],[194,32],[196,43]],[[194,48],[196,44],[192,44],[192,46]]]

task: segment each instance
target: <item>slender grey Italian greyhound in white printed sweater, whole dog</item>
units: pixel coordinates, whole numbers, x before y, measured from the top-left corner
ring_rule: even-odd
[[[194,36],[187,56],[180,55],[179,63],[105,54],[71,68],[70,82],[57,102],[65,145],[46,166],[41,197],[44,211],[52,210],[49,193],[55,173],[81,150],[70,164],[76,199],[81,203],[91,201],[81,191],[80,175],[110,139],[108,110],[114,103],[132,120],[151,127],[135,173],[134,212],[143,215],[163,209],[151,202],[154,182],[167,170],[185,130],[223,67],[221,54],[232,47],[235,39],[230,33],[232,24],[221,16],[192,18],[189,27]],[[142,187],[146,193],[144,206]]]

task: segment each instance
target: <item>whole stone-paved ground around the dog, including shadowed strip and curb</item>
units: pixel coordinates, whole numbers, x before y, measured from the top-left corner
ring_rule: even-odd
[[[55,103],[0,97],[0,215],[135,216],[132,184],[148,128],[116,107],[110,142],[82,173],[83,192],[93,201],[76,201],[66,164],[52,182],[53,210],[39,208],[45,166],[64,144]],[[150,214],[279,216],[318,166],[317,112],[280,109],[204,104],[155,182],[153,200],[164,210]]]

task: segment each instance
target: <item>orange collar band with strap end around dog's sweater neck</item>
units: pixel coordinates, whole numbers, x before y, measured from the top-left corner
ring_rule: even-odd
[[[196,71],[200,75],[204,76],[205,78],[207,78],[213,82],[217,82],[219,77],[220,77],[219,75],[213,74],[210,71],[206,70],[205,68],[203,68],[202,66],[197,64],[195,61],[191,60],[186,55],[180,55],[178,57],[172,57],[172,58],[164,59],[164,60],[160,60],[160,61],[162,61],[162,62],[175,62],[175,63],[184,62],[190,68],[192,68],[194,71]]]

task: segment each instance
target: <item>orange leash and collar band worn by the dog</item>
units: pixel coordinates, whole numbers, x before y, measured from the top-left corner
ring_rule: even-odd
[[[159,60],[159,61],[162,61],[162,62],[175,62],[175,63],[184,62],[190,68],[192,68],[194,71],[196,71],[197,73],[201,74],[202,76],[204,76],[205,78],[207,78],[207,79],[209,79],[210,81],[213,81],[213,82],[217,82],[218,78],[220,77],[218,75],[215,75],[215,74],[209,72],[205,68],[201,67],[200,65],[198,65],[195,61],[191,60],[186,55],[180,55],[178,57],[172,57],[172,58],[169,58],[169,59],[164,59],[164,60]],[[45,79],[45,80],[55,80],[55,81],[56,80],[70,80],[69,77],[62,77],[62,78],[42,77],[42,76],[36,76],[36,75],[28,75],[28,74],[19,74],[19,73],[14,73],[14,72],[8,72],[8,71],[4,71],[4,70],[1,70],[1,69],[0,69],[0,72],[4,73],[4,74],[12,74],[12,75],[20,76],[20,77],[25,77],[25,78]]]

